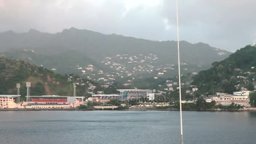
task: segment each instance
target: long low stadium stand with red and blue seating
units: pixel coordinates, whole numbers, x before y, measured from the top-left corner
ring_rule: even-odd
[[[28,102],[23,103],[24,108],[71,108],[83,104],[83,96],[26,96]]]

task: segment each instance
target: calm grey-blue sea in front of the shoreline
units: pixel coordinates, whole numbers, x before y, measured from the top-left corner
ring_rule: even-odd
[[[183,112],[184,144],[255,144],[256,112]],[[0,112],[0,144],[179,144],[179,112]]]

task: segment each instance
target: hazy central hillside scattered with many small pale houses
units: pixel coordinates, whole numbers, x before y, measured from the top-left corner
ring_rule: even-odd
[[[168,77],[171,73],[177,70],[174,64],[161,64],[155,54],[138,54],[138,55],[116,55],[105,57],[101,60],[101,64],[108,69],[99,69],[93,64],[88,64],[86,67],[77,65],[76,68],[82,75],[89,80],[98,81],[103,85],[111,85],[115,80],[122,82],[123,86],[129,86],[136,78],[141,75],[147,75],[158,79],[159,77]],[[189,71],[189,64],[182,63],[184,71]],[[197,72],[193,72],[194,75]]]

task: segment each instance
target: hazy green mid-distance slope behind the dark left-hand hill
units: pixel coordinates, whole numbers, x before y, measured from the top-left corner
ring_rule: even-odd
[[[0,56],[4,56],[8,59],[21,59],[36,64],[39,67],[46,67],[48,69],[55,69],[56,73],[60,74],[81,74],[81,70],[77,70],[79,67],[86,67],[89,64],[93,64],[96,70],[101,69],[101,65],[85,56],[78,51],[63,51],[60,53],[40,54],[33,50],[10,50],[4,53],[0,53]]]

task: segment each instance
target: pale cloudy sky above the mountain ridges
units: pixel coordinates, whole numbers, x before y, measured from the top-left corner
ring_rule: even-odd
[[[178,0],[180,40],[236,51],[256,40],[256,0]],[[177,40],[176,0],[0,0],[0,32],[75,27]]]

